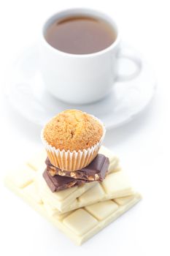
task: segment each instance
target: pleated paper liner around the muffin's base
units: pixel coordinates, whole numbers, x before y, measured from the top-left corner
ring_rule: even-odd
[[[92,116],[92,115],[91,115]],[[104,124],[101,122],[100,119],[93,116],[99,124],[103,127],[103,135],[101,140],[98,141],[95,145],[88,149],[83,149],[82,151],[65,151],[64,149],[61,151],[59,148],[55,148],[47,143],[47,140],[44,138],[44,129],[41,132],[41,139],[42,143],[45,146],[47,151],[47,156],[50,159],[50,162],[55,167],[58,167],[61,170],[81,170],[83,167],[86,167],[93,161],[93,159],[98,154],[98,150],[101,147],[101,143],[104,140],[104,136],[106,134],[106,129]]]

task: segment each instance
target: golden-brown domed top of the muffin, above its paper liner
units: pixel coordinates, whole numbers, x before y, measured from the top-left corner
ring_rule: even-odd
[[[56,149],[82,151],[98,143],[103,132],[102,125],[93,116],[80,110],[65,110],[45,125],[43,135]]]

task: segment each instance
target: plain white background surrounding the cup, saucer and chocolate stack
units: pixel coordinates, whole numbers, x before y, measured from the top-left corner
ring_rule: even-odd
[[[4,70],[36,42],[43,20],[66,7],[107,12],[117,20],[121,37],[155,69],[158,90],[150,106],[134,121],[107,132],[105,140],[143,200],[90,241],[74,246],[3,186],[7,170],[39,150],[41,143],[40,127],[21,118],[0,94],[0,255],[169,255],[169,1],[1,1],[1,87]]]

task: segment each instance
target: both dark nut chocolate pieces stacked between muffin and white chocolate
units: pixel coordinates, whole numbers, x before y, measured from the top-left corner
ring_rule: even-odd
[[[81,186],[87,182],[103,181],[107,175],[109,167],[109,158],[104,154],[98,154],[90,165],[82,168],[82,170],[61,170],[50,163],[47,157],[45,164],[47,165],[43,177],[52,192],[68,189],[75,186]]]

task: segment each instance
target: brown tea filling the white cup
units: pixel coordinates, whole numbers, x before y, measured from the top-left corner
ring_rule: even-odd
[[[65,53],[96,53],[112,45],[116,33],[104,20],[72,16],[55,20],[45,33],[47,42]]]

